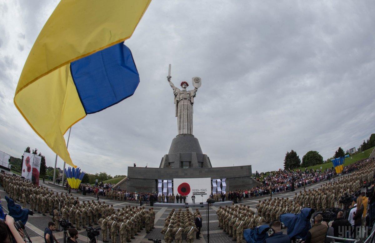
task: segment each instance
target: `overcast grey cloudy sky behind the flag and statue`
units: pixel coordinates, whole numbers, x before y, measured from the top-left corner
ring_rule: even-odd
[[[58,1],[0,3],[0,150],[55,154],[13,104],[23,65]],[[158,167],[177,135],[166,81],[202,78],[194,135],[213,166],[281,168],[285,153],[327,159],[374,132],[374,1],[151,2],[126,40],[141,83],[135,94],[72,127],[83,170],[127,174]],[[192,89],[192,86],[188,89]],[[62,168],[59,158],[57,165]]]

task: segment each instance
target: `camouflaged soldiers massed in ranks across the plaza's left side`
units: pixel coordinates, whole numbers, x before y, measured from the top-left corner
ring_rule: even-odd
[[[29,203],[30,210],[42,213],[43,216],[49,213],[56,225],[59,225],[61,219],[71,222],[77,230],[81,230],[81,226],[87,228],[100,224],[103,242],[108,242],[108,233],[111,242],[116,242],[119,235],[120,243],[123,243],[135,239],[134,236],[143,228],[146,233],[154,228],[153,208],[147,210],[144,207],[126,206],[115,211],[113,205],[105,204],[105,201],[80,202],[72,194],[54,193],[45,186],[36,186],[28,180],[4,173],[0,173],[0,183],[15,202],[20,201],[24,208]]]

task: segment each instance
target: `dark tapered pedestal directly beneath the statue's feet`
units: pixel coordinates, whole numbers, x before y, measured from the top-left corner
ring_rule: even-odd
[[[168,154],[159,168],[211,168],[210,158],[203,154],[198,139],[192,134],[179,134],[172,139]]]

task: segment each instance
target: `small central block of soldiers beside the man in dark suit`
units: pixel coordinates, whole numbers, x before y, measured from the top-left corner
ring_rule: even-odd
[[[195,218],[201,213],[198,209],[194,213],[190,212],[188,208],[185,211],[172,209],[168,217],[165,219],[164,227],[161,233],[164,235],[164,241],[171,243],[173,240],[176,243],[181,243],[186,239],[187,242],[194,242],[196,232]]]

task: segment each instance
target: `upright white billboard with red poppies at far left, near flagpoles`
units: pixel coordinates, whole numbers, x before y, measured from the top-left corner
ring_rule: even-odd
[[[39,170],[42,157],[37,154],[24,152],[22,176],[39,186]]]

